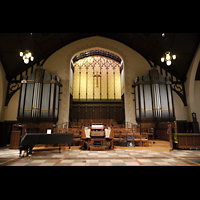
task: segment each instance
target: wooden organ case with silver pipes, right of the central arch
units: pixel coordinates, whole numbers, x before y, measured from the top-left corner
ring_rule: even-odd
[[[156,68],[134,81],[136,121],[141,131],[154,128],[157,139],[170,140],[168,124],[174,128],[175,113],[171,81]]]

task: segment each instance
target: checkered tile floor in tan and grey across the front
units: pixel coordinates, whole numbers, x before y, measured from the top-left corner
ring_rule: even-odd
[[[0,166],[200,166],[200,150],[72,149],[59,153],[58,149],[40,149],[28,158],[19,157],[18,150],[0,148]]]

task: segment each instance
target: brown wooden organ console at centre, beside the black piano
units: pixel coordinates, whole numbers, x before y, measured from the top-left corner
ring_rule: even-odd
[[[114,132],[113,128],[105,128],[102,124],[92,124],[82,128],[82,149],[106,150],[113,149]]]

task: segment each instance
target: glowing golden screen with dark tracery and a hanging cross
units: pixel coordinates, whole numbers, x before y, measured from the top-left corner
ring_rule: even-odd
[[[103,56],[73,63],[73,99],[121,99],[121,64]]]

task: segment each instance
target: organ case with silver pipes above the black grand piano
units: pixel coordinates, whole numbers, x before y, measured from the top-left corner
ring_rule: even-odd
[[[18,123],[27,132],[46,133],[58,120],[60,79],[37,66],[30,76],[23,76],[18,108]]]

